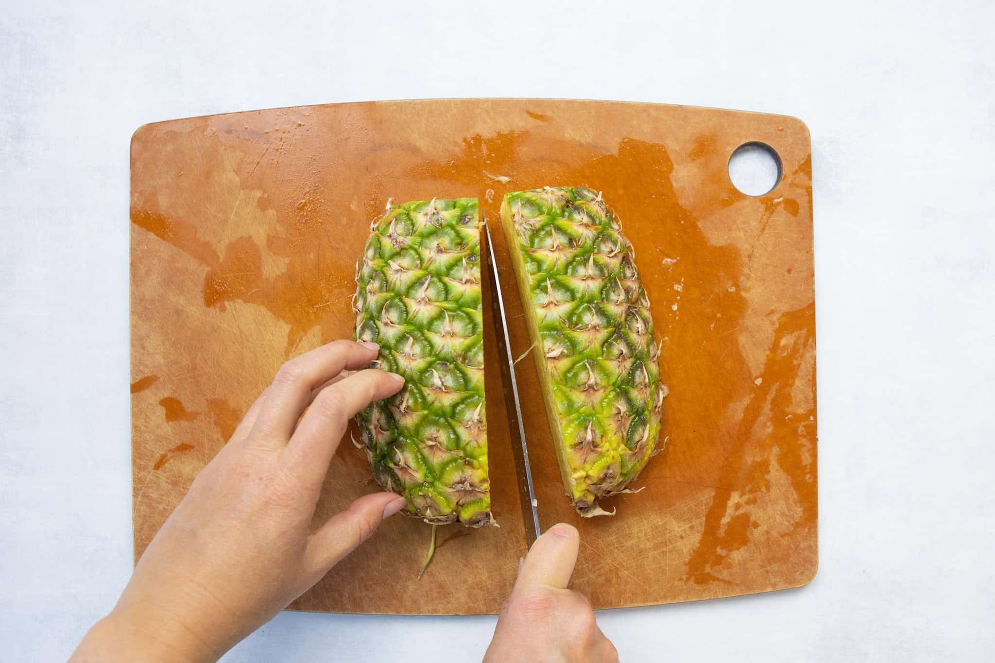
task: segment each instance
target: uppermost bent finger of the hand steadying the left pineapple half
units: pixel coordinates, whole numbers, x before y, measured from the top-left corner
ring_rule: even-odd
[[[311,392],[342,369],[354,371],[369,365],[376,359],[378,347],[375,343],[333,341],[287,362],[269,388],[255,429],[290,438],[300,413],[310,403]]]

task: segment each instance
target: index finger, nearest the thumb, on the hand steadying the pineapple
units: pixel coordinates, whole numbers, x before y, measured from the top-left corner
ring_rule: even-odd
[[[395,373],[367,369],[321,390],[291,437],[288,462],[298,468],[301,478],[320,483],[349,418],[373,401],[397,394],[403,386],[404,378]]]

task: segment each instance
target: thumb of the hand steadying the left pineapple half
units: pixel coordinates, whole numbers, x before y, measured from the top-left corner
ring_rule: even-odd
[[[324,575],[407,503],[394,493],[374,493],[363,495],[348,509],[332,516],[311,535],[307,544],[313,569]]]

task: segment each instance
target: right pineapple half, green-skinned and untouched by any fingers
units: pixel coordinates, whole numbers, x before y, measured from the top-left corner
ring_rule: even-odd
[[[632,245],[590,189],[506,194],[500,216],[567,495],[613,515],[597,500],[634,492],[667,394]]]

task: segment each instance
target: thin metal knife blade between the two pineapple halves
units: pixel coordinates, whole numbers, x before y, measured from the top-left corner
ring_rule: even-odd
[[[500,365],[501,386],[504,388],[504,403],[514,404],[514,409],[507,409],[508,431],[511,435],[511,451],[514,455],[514,469],[518,475],[518,498],[521,502],[521,520],[525,526],[525,539],[531,548],[539,537],[539,514],[536,511],[535,489],[532,486],[532,471],[528,466],[528,447],[525,446],[525,426],[521,421],[521,403],[518,400],[518,386],[514,380],[514,357],[511,355],[511,341],[507,336],[507,324],[504,316],[504,300],[501,298],[500,277],[497,275],[497,259],[495,246],[491,240],[491,228],[484,221],[484,230],[488,239],[488,261],[491,264],[491,305],[495,317],[495,337],[497,352],[502,355]],[[508,398],[510,395],[510,398]],[[515,439],[517,438],[517,439]]]

